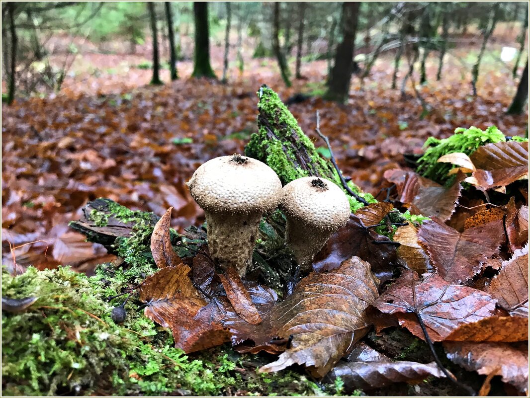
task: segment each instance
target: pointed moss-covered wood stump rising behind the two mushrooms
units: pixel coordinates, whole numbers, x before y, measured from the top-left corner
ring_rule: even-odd
[[[319,155],[312,141],[307,137],[295,117],[281,102],[278,94],[267,86],[262,86],[258,92],[258,132],[250,138],[245,147],[245,155],[267,163],[278,174],[282,184],[287,184],[298,178],[310,175],[320,175],[328,178],[342,188],[339,174],[334,167]],[[274,127],[276,126],[276,127]],[[270,129],[274,131],[270,131]],[[308,154],[309,170],[296,167],[297,154]],[[353,182],[348,182],[352,191],[369,203],[377,201],[369,193],[364,193]],[[355,212],[364,205],[351,197],[345,189],[350,201],[351,211]]]

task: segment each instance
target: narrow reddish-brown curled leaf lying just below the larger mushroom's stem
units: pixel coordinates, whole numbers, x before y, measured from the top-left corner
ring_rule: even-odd
[[[235,309],[237,315],[245,322],[253,325],[261,323],[258,309],[252,303],[250,293],[243,285],[239,273],[233,266],[229,266],[224,273],[219,275],[225,288],[226,297]]]

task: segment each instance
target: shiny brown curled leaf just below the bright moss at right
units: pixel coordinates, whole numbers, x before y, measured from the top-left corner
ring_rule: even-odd
[[[462,185],[463,175],[459,175],[451,187],[445,188],[412,171],[392,169],[385,171],[386,180],[396,184],[398,200],[410,207],[410,213],[428,217],[438,217],[445,221],[453,214]]]

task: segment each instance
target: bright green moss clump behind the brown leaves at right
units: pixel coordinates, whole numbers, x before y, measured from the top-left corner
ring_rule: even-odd
[[[427,150],[418,161],[417,171],[431,180],[451,184],[454,177],[448,176],[447,173],[455,166],[437,163],[441,156],[455,152],[463,152],[469,156],[482,145],[501,141],[506,141],[506,137],[495,126],[488,127],[485,131],[473,126],[469,129],[457,128],[454,135],[444,139],[429,137],[423,144]]]

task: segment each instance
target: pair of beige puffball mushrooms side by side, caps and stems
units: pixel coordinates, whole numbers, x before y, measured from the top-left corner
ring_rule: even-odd
[[[299,266],[308,270],[331,234],[346,225],[348,198],[329,180],[304,177],[281,187],[266,164],[241,155],[202,164],[188,182],[191,196],[205,210],[210,255],[241,276],[252,261],[263,213],[278,205],[287,217],[285,242]]]

